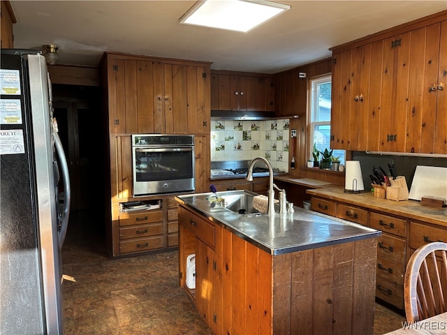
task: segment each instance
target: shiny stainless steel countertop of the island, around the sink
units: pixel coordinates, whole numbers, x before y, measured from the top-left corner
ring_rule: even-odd
[[[321,248],[381,235],[380,230],[300,207],[294,207],[293,213],[277,213],[272,216],[237,214],[220,205],[211,208],[207,198],[213,194],[177,195],[175,200],[271,255]]]

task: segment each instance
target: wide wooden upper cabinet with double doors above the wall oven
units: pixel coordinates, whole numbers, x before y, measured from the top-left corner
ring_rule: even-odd
[[[210,133],[210,64],[107,54],[110,133]]]

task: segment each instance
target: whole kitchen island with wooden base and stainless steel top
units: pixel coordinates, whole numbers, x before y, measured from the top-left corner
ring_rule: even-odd
[[[373,334],[379,230],[298,207],[237,214],[211,195],[175,199],[179,285],[215,334]]]

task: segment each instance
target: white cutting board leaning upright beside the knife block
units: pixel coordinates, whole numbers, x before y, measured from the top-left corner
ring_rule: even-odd
[[[417,165],[411,183],[409,199],[420,200],[425,195],[447,200],[447,168]]]

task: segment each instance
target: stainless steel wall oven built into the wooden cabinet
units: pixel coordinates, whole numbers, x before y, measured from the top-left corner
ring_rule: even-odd
[[[194,191],[194,135],[132,135],[133,195]]]

